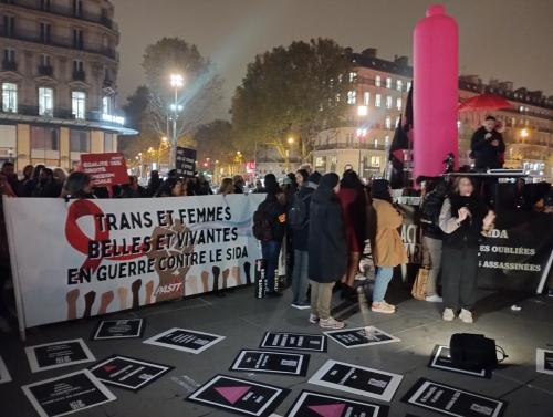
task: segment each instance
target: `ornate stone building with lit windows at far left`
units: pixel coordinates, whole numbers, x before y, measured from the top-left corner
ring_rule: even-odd
[[[0,0],[0,164],[73,168],[117,149],[119,41],[107,0]]]

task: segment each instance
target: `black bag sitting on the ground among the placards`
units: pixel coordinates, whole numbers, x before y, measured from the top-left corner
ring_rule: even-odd
[[[493,369],[498,366],[495,341],[483,334],[456,333],[449,341],[455,366],[468,371]]]

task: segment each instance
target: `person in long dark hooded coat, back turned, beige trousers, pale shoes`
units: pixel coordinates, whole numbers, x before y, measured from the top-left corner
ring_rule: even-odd
[[[338,191],[340,177],[334,173],[326,174],[313,192],[310,206],[310,322],[319,322],[323,329],[342,329],[345,325],[331,316],[332,289],[347,269],[347,244]]]

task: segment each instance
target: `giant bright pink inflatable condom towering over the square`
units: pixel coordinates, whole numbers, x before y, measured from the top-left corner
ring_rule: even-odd
[[[458,38],[456,20],[440,4],[430,6],[415,27],[414,178],[442,174],[449,153],[457,164]]]

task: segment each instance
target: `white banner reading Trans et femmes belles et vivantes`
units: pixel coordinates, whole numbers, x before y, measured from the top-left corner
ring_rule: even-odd
[[[4,198],[21,330],[251,283],[263,198]]]

